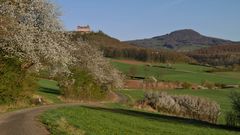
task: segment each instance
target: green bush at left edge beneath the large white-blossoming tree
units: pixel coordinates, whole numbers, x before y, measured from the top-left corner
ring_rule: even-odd
[[[36,83],[33,77],[21,68],[21,62],[0,55],[0,104],[30,99],[34,89]]]

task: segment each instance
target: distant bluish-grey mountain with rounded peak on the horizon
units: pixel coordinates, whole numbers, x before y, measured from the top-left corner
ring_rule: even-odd
[[[192,51],[216,45],[237,44],[230,40],[207,37],[191,29],[178,30],[150,39],[126,41],[126,43],[145,48],[165,48],[176,51]]]

